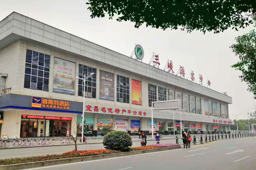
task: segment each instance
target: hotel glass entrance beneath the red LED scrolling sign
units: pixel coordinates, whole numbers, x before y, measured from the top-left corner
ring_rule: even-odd
[[[22,115],[20,137],[69,136],[71,120],[66,117]]]

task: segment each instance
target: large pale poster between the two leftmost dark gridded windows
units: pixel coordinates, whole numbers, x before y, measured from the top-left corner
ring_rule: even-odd
[[[54,58],[54,93],[75,95],[75,63]]]

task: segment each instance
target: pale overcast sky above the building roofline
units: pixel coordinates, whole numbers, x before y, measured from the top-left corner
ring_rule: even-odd
[[[0,21],[15,11],[127,56],[135,44],[140,44],[144,49],[143,62],[149,63],[153,52],[158,53],[160,69],[164,69],[168,59],[172,60],[175,73],[182,65],[185,78],[193,70],[195,81],[202,74],[204,84],[209,78],[211,89],[227,92],[233,101],[229,105],[230,119],[235,119],[235,114],[241,114],[238,119],[247,119],[247,113],[256,110],[256,100],[238,77],[241,72],[230,67],[239,59],[229,48],[235,37],[248,33],[253,26],[205,35],[199,31],[189,34],[145,25],[136,29],[131,22],[117,22],[108,17],[91,19],[85,3],[85,0],[0,0]]]

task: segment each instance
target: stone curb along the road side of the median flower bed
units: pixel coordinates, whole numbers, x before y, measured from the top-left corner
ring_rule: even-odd
[[[83,156],[83,157],[76,157],[76,158],[56,159],[56,160],[29,162],[29,163],[21,163],[21,164],[13,164],[13,165],[0,165],[0,170],[16,170],[16,169],[35,168],[35,167],[42,167],[42,166],[66,164],[66,163],[72,163],[72,162],[113,158],[113,157],[119,157],[119,156],[137,155],[137,154],[143,154],[143,153],[173,150],[173,149],[180,149],[180,148],[181,148],[181,146],[172,146],[172,147],[137,150],[137,151],[130,151],[130,152],[111,153],[111,154],[104,154],[104,155]]]

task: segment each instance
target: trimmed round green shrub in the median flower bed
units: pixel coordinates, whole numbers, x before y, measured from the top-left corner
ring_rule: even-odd
[[[132,146],[132,137],[125,131],[111,131],[103,138],[103,145],[111,150],[129,150]]]

